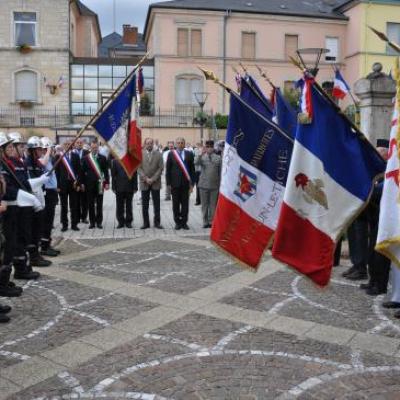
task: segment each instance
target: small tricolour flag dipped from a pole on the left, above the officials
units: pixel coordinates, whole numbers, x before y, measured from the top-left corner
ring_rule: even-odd
[[[137,126],[136,75],[92,124],[129,177],[142,162],[141,131]]]

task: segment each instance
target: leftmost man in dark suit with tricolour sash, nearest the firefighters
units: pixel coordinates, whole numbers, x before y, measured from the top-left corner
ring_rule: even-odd
[[[71,141],[63,143],[64,151],[67,151]],[[60,156],[56,156],[55,163]],[[68,151],[64,160],[59,162],[56,167],[57,190],[61,203],[61,230],[65,232],[68,229],[68,200],[71,214],[71,229],[79,231],[79,210],[78,195],[80,190],[81,162],[79,156],[72,151]]]

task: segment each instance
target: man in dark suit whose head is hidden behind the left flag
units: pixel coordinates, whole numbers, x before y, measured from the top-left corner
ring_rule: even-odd
[[[111,162],[111,188],[117,200],[117,229],[124,226],[132,228],[133,213],[132,200],[133,194],[137,192],[137,172],[129,178],[121,164],[117,160]]]

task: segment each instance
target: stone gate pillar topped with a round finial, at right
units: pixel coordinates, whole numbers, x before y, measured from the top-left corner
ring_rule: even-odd
[[[389,139],[396,82],[375,63],[372,72],[354,84],[360,99],[360,129],[375,146],[377,139]]]

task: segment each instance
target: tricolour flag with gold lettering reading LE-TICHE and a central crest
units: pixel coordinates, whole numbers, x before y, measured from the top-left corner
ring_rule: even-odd
[[[218,205],[211,240],[256,269],[275,231],[293,143],[231,95]],[[254,108],[254,107],[253,107]]]

